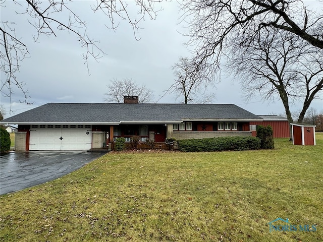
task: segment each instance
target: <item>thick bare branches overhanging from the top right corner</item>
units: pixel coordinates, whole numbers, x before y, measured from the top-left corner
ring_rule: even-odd
[[[187,44],[196,49],[196,64],[212,71],[219,69],[233,39],[245,33],[252,38],[263,27],[292,33],[323,49],[323,15],[309,10],[301,0],[191,0],[183,2],[181,10],[182,22],[189,29]]]

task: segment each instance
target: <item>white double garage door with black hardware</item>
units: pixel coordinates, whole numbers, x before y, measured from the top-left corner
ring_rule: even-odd
[[[90,125],[33,125],[29,150],[89,150],[92,144]]]

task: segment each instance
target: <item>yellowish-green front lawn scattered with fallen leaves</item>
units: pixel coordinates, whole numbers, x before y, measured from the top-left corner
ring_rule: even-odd
[[[274,150],[111,152],[0,197],[1,241],[323,241],[323,134]],[[269,231],[288,218],[316,231]]]

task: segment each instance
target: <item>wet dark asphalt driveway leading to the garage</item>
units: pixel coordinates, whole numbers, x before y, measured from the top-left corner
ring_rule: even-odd
[[[0,195],[77,170],[106,152],[10,152],[0,157]]]

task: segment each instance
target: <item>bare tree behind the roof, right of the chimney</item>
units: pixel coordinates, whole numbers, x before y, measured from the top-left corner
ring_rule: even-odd
[[[178,98],[183,98],[185,104],[192,102],[209,103],[212,101],[214,95],[206,94],[206,90],[208,85],[213,85],[214,76],[208,75],[202,66],[196,68],[194,59],[180,57],[172,69],[175,82],[166,90],[164,95],[175,92]]]

